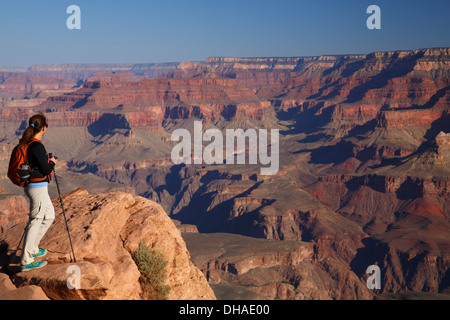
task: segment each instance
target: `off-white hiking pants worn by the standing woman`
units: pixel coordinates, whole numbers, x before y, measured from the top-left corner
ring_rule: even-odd
[[[55,219],[48,187],[25,187],[25,195],[30,200],[30,219],[26,227],[25,242],[20,264],[25,266],[34,262],[33,255],[39,252],[39,243]]]

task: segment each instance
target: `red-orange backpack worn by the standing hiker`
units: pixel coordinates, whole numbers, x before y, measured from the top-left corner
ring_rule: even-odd
[[[8,178],[19,187],[25,187],[30,182],[31,167],[28,163],[27,150],[28,146],[34,141],[41,143],[38,139],[31,139],[24,145],[16,146],[11,153],[8,166]],[[42,180],[45,180],[45,178]]]

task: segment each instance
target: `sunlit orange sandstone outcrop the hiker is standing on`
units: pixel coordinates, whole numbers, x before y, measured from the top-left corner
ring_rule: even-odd
[[[37,285],[50,299],[140,299],[140,273],[131,258],[139,243],[160,251],[168,260],[169,299],[215,299],[203,274],[190,261],[180,232],[156,203],[116,192],[90,195],[84,189],[63,196],[75,250],[71,249],[61,206],[54,199],[57,218],[41,242],[48,265],[12,276],[16,286]],[[16,248],[23,225],[0,236]],[[68,267],[81,275],[80,289],[70,290]]]

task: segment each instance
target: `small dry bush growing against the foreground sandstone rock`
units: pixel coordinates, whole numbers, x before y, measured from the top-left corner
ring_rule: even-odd
[[[154,249],[149,249],[141,242],[139,248],[133,253],[141,277],[142,298],[146,300],[166,300],[170,287],[165,285],[167,279],[167,259]]]

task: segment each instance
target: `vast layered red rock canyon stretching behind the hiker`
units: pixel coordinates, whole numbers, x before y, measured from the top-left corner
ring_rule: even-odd
[[[448,297],[449,75],[449,48],[3,71],[1,230],[25,222],[6,167],[42,111],[61,190],[161,205],[219,299]],[[174,164],[195,121],[279,130],[278,172]]]

